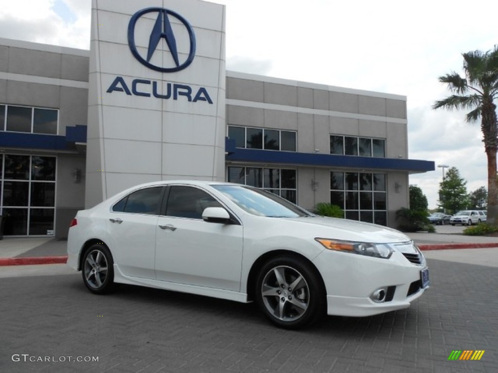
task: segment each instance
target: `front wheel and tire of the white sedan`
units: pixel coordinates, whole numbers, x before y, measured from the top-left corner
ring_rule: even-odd
[[[270,259],[256,279],[256,302],[273,324],[299,329],[325,314],[325,289],[316,270],[302,259]]]

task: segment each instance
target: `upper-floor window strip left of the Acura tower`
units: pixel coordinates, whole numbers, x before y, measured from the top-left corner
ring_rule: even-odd
[[[57,135],[59,110],[0,105],[0,130]]]

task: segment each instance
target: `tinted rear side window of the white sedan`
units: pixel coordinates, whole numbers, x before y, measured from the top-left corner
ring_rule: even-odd
[[[159,214],[163,187],[140,189],[128,194],[113,206],[113,211],[136,214]]]

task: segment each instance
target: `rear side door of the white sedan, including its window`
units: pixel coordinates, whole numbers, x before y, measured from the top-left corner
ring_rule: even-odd
[[[155,279],[155,231],[165,187],[146,187],[118,201],[107,229],[114,243],[114,262],[126,276]]]

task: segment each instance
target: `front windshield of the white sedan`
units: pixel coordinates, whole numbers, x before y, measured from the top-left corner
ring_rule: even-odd
[[[242,185],[212,185],[244,211],[257,216],[310,216],[305,209],[266,190]]]

